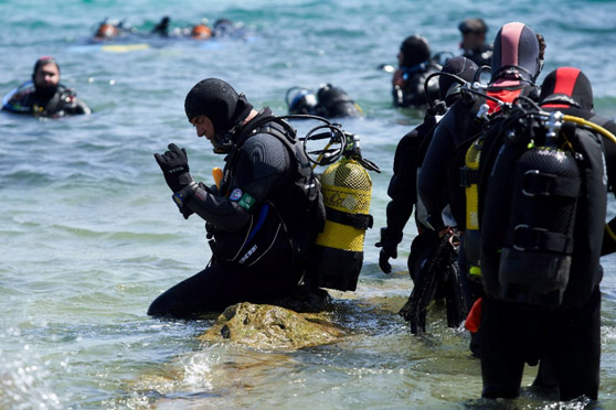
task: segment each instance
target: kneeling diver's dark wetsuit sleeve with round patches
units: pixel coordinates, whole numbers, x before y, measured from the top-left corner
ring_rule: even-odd
[[[237,152],[229,195],[198,187],[188,207],[217,229],[234,233],[245,226],[251,214],[267,199],[272,190],[286,181],[289,155],[273,136],[251,137]]]

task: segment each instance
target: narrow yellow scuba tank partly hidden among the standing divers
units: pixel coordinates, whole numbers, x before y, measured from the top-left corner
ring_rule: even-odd
[[[464,250],[468,262],[468,276],[478,281],[481,280],[481,268],[479,267],[479,160],[484,139],[478,138],[466,151],[464,173],[466,194],[466,222],[464,231]]]

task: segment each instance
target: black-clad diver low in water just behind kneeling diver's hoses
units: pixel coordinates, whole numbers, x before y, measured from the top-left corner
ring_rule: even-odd
[[[291,93],[296,91],[290,98]],[[309,114],[325,118],[362,117],[359,105],[340,87],[325,84],[317,94],[302,87],[287,90],[286,101],[289,114]]]

